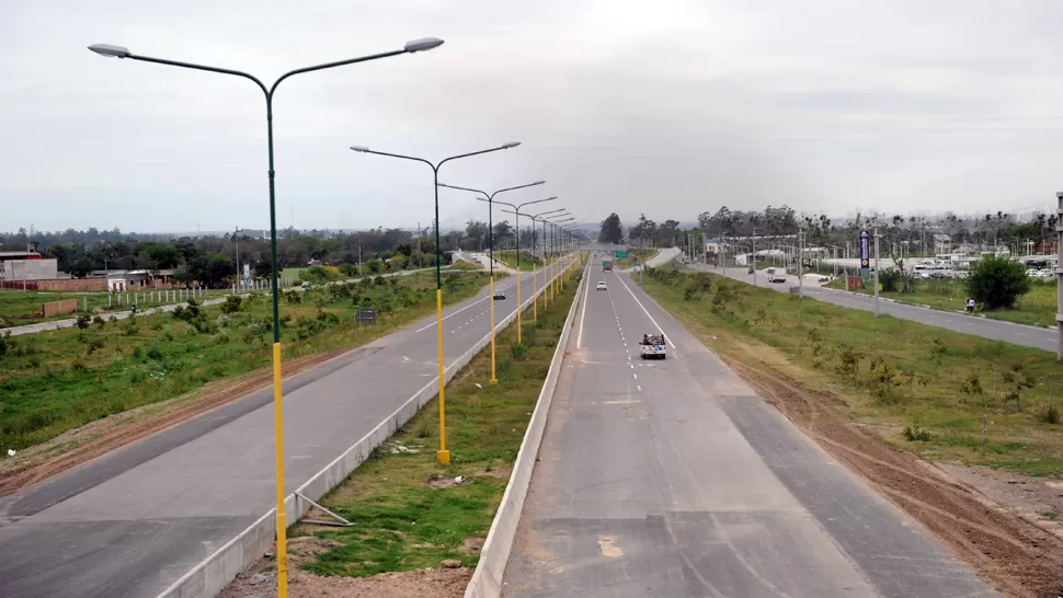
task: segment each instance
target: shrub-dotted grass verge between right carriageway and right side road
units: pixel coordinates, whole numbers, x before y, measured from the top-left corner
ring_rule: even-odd
[[[695,280],[708,280],[709,290],[698,290]],[[713,274],[654,271],[643,286],[706,346],[834,392],[854,419],[898,446],[930,460],[1063,476],[1063,426],[1043,421],[1063,395],[1063,368],[1052,353],[889,315],[876,319]],[[855,372],[845,366],[850,349],[860,354]],[[1005,375],[1016,365],[1035,382],[1019,393],[1022,411],[1006,398],[1011,384]],[[892,381],[883,381],[883,371]],[[982,393],[964,392],[972,375]],[[905,427],[929,438],[911,441]]]

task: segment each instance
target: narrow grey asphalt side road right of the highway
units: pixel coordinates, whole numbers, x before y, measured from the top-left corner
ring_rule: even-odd
[[[717,268],[716,266],[693,264],[690,267],[704,272],[723,274],[723,271]],[[728,278],[733,278],[751,285],[753,284],[753,275],[747,274],[746,268],[727,268],[727,276]],[[798,286],[798,278],[797,276],[791,275],[787,277],[786,283],[769,284],[767,281],[767,277],[758,273],[757,286],[777,290],[779,292],[789,292],[791,287]],[[804,284],[804,296],[818,301],[834,303],[835,306],[841,306],[843,308],[875,311],[875,297],[846,292],[843,290],[820,288],[809,284],[808,278],[805,278]],[[964,313],[908,306],[905,303],[899,303],[896,301],[887,301],[880,299],[879,313],[892,315],[902,320],[911,320],[913,322],[927,324],[929,326],[962,332],[963,334],[973,334],[975,336],[992,338],[994,341],[1004,341],[1005,343],[1011,343],[1013,345],[1022,345],[1050,350],[1052,353],[1055,353],[1059,344],[1059,333],[1054,329],[1041,329],[1037,326],[1013,324],[1010,322],[1002,322],[999,320],[991,320],[988,318],[980,318],[978,315],[967,315]]]

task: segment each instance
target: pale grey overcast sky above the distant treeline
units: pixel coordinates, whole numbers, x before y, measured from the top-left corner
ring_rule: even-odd
[[[701,211],[1050,208],[1063,189],[1060,0],[35,0],[0,2],[0,230],[268,223],[250,82],[93,43],[308,73],[275,101],[278,226],[412,228],[432,172],[585,221]],[[542,208],[548,209],[546,207]],[[443,191],[444,226],[485,205]]]

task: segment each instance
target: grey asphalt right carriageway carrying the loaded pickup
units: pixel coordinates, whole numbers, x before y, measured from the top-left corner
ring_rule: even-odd
[[[628,275],[590,277],[506,598],[996,596]]]

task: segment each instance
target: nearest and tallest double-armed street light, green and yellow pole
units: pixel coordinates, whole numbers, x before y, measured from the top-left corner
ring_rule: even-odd
[[[253,74],[232,70],[224,69],[218,67],[208,67],[205,65],[194,65],[192,62],[180,62],[178,60],[169,60],[165,58],[153,58],[150,56],[139,56],[129,51],[128,48],[124,46],[115,46],[112,44],[93,44],[89,46],[89,49],[99,54],[100,56],[108,58],[129,58],[132,60],[140,60],[141,62],[155,62],[157,65],[165,65],[169,67],[181,67],[185,69],[194,70],[205,70],[209,72],[218,72],[221,74],[232,74],[236,77],[242,77],[250,80],[265,96],[266,102],[266,143],[268,147],[270,154],[270,169],[267,171],[267,176],[270,179],[270,257],[272,260],[270,269],[271,278],[273,281],[273,414],[274,414],[274,427],[276,437],[276,478],[277,478],[277,596],[278,598],[286,598],[288,595],[288,559],[287,559],[287,524],[286,514],[284,509],[284,409],[282,402],[282,391],[281,391],[281,308],[279,308],[279,292],[281,288],[277,285],[277,217],[276,217],[276,192],[274,185],[274,179],[276,171],[273,169],[273,97],[276,94],[277,85],[281,84],[285,79],[295,76],[302,74],[305,72],[313,72],[318,70],[331,69],[333,67],[342,67],[346,65],[354,65],[356,62],[367,62],[369,60],[377,60],[379,58],[389,58],[391,56],[399,56],[402,54],[414,54],[418,51],[425,51],[432,48],[437,48],[443,45],[443,39],[435,37],[425,37],[423,39],[414,39],[408,42],[401,49],[386,51],[382,54],[372,54],[368,56],[361,56],[358,58],[348,58],[346,60],[338,60],[335,62],[325,62],[323,65],[315,65],[312,67],[304,67],[301,69],[290,70],[282,74],[276,81],[273,82],[268,88],[263,83],[258,77]]]

